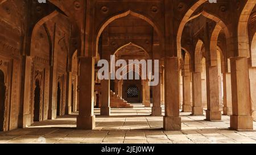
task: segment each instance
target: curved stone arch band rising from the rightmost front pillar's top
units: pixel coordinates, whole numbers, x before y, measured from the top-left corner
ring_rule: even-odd
[[[248,22],[250,18],[251,11],[256,4],[256,1],[248,0],[243,8],[239,22],[238,22],[238,53],[236,56],[238,57],[249,57],[249,36],[248,36]]]

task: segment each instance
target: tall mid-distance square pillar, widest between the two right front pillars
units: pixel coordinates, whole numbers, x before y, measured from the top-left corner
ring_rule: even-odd
[[[207,71],[207,116],[206,120],[221,120],[218,66],[206,65]]]

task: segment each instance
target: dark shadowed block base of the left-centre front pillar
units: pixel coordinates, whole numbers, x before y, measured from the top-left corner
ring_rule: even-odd
[[[78,116],[76,119],[77,129],[92,130],[95,128],[95,116]]]

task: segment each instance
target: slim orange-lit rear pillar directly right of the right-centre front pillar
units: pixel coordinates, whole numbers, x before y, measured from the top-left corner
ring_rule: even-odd
[[[191,89],[190,82],[191,76],[189,72],[184,71],[183,74],[183,104],[182,112],[191,112]]]

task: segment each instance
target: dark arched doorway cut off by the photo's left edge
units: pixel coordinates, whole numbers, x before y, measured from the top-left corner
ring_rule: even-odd
[[[5,122],[5,74],[0,70],[0,131],[4,129]]]

